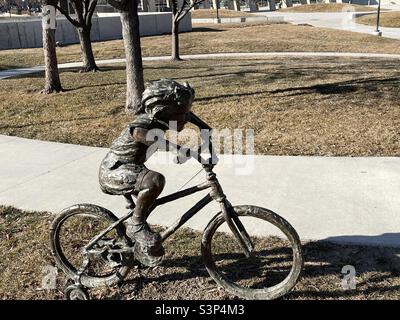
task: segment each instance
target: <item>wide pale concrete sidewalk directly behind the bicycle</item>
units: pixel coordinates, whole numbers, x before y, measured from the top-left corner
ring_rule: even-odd
[[[0,204],[58,212],[95,203],[121,215],[121,196],[103,194],[97,173],[107,149],[0,135]],[[176,191],[200,169],[189,162],[149,167],[167,178],[163,194]],[[254,170],[237,175],[251,158],[221,156],[216,172],[233,204],[267,207],[286,218],[302,239],[400,247],[400,158],[255,156]],[[199,174],[190,185],[204,180]],[[204,192],[157,209],[151,223],[169,225]],[[212,203],[188,226],[202,230],[218,211]],[[257,232],[257,228],[254,230]]]

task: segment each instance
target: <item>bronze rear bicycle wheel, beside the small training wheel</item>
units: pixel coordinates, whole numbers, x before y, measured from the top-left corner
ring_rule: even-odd
[[[117,217],[110,211],[92,204],[74,205],[63,210],[53,221],[50,231],[51,251],[58,267],[75,279],[85,261],[84,247],[115,221]],[[94,247],[98,253],[89,255],[80,283],[87,288],[96,288],[122,281],[129,267],[123,263],[123,256],[107,254],[107,250],[123,246],[129,246],[129,241],[123,226],[118,225]]]

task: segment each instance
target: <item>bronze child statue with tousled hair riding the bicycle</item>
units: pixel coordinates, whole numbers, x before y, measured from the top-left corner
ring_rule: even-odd
[[[173,129],[169,127],[170,123],[175,124],[177,131],[181,131],[188,121],[200,129],[209,129],[191,112],[194,95],[188,83],[180,84],[171,79],[151,83],[143,93],[136,119],[113,141],[100,166],[99,181],[103,192],[136,197],[136,207],[126,233],[136,243],[135,257],[148,266],[159,264],[164,255],[160,235],[150,229],[146,219],[164,188],[165,177],[144,164],[152,154],[150,147],[156,143],[146,137],[152,129],[163,132]],[[166,146],[167,151],[172,146],[168,140],[159,140],[157,145]],[[174,146],[179,154],[187,155],[187,148]]]

